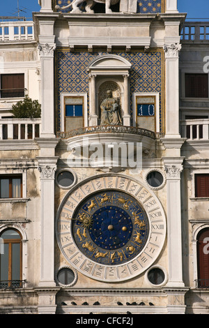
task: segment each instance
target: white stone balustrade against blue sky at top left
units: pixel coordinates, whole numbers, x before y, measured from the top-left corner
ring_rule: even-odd
[[[34,23],[32,21],[0,22],[0,42],[34,39]]]

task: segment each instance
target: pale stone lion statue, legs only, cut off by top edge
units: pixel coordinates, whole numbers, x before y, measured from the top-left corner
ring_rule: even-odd
[[[56,6],[56,9],[65,10],[67,8],[72,7],[71,13],[82,13],[82,11],[79,9],[79,5],[84,3],[86,1],[86,12],[87,13],[94,13],[93,6],[95,3],[104,3],[105,4],[105,13],[112,13],[112,10],[110,8],[111,5],[115,5],[120,0],[73,0],[68,6],[60,7]]]

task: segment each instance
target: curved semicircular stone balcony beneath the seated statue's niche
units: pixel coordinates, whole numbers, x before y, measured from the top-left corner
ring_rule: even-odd
[[[101,170],[122,170],[142,157],[153,157],[157,135],[153,131],[133,126],[88,126],[69,132],[59,132],[59,150],[77,167],[100,167]],[[89,158],[97,159],[88,161]],[[140,157],[141,156],[141,157]],[[105,160],[104,160],[105,158]],[[69,165],[69,162],[68,162]],[[109,171],[113,172],[113,171]]]

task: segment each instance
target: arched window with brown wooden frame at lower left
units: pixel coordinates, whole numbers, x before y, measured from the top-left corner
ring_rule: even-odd
[[[0,288],[21,288],[22,236],[15,229],[6,229],[0,237]]]

